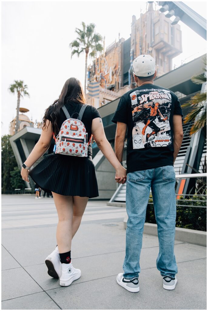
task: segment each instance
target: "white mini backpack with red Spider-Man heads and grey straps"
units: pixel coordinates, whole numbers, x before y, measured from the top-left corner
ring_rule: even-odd
[[[84,123],[81,122],[86,107],[87,105],[83,104],[77,119],[70,117],[65,106],[61,107],[66,115],[66,120],[62,123],[57,137],[53,134],[56,142],[53,149],[55,153],[68,156],[88,156],[88,145],[91,142],[91,137],[89,142],[87,142],[88,133]]]

